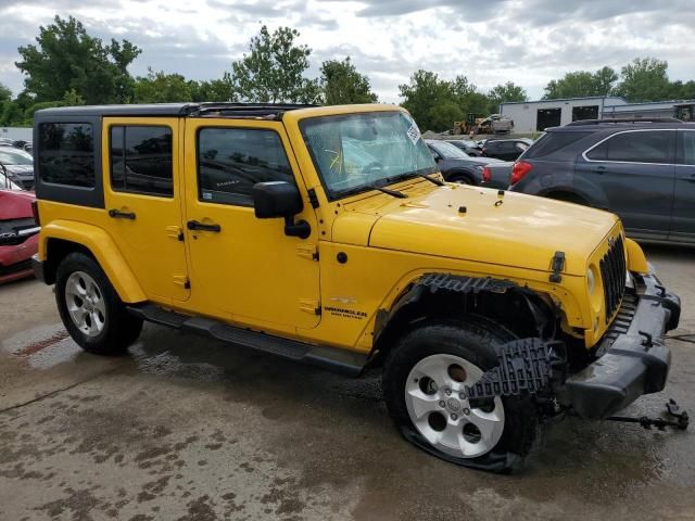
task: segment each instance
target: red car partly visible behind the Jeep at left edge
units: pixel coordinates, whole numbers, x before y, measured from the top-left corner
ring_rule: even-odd
[[[34,192],[0,189],[0,283],[31,277],[31,255],[38,249]]]

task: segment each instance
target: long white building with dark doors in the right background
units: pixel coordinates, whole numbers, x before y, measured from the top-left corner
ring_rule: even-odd
[[[502,103],[500,113],[514,120],[515,134],[543,131],[578,119],[674,117],[677,101],[628,103],[617,96]]]

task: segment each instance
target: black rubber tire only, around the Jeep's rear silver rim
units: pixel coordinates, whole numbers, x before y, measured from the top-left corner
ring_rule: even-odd
[[[97,283],[105,307],[103,329],[96,336],[76,326],[67,308],[65,287],[71,275],[87,274]],[[55,302],[65,329],[83,350],[98,355],[123,355],[142,330],[142,320],[130,315],[109,278],[89,255],[75,252],[65,256],[55,272]]]

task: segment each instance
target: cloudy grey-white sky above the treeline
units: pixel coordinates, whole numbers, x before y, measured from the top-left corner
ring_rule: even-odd
[[[47,4],[50,3],[50,7]],[[39,25],[73,15],[105,41],[126,38],[143,52],[131,65],[187,78],[220,77],[247,52],[263,23],[300,30],[324,60],[352,56],[381,101],[425,68],[464,74],[486,90],[511,80],[532,99],[548,80],[577,69],[619,68],[635,56],[669,62],[671,79],[694,79],[693,0],[0,0],[0,82],[15,93],[16,49]]]

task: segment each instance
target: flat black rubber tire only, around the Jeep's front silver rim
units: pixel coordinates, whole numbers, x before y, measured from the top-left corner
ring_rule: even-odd
[[[472,315],[459,320],[424,322],[404,334],[387,357],[382,382],[389,414],[401,433],[418,447],[457,465],[496,472],[520,469],[539,428],[538,408],[531,397],[502,398],[505,416],[502,437],[491,452],[476,458],[455,458],[432,447],[410,421],[405,403],[406,379],[422,358],[455,355],[486,371],[497,365],[495,347],[516,339],[504,326]]]

